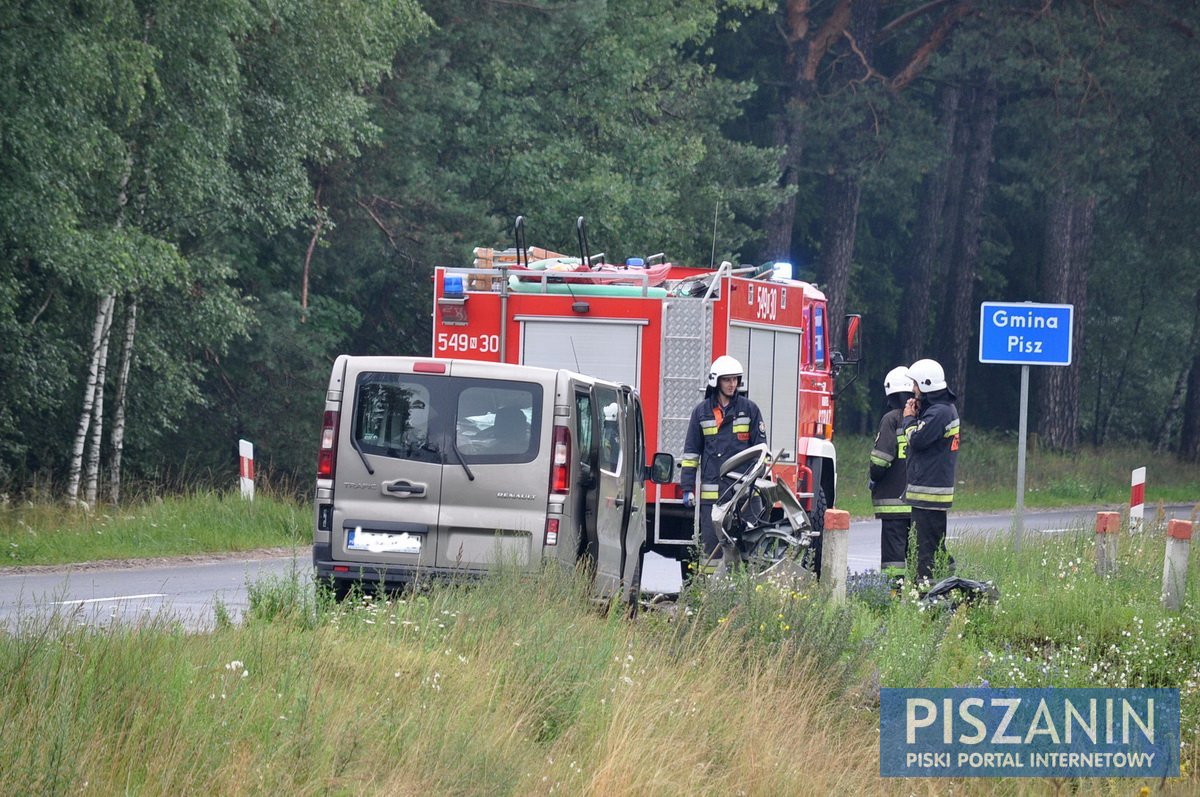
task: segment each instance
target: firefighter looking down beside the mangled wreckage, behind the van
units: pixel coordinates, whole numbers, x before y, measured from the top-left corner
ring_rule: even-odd
[[[758,406],[742,395],[742,364],[721,355],[708,370],[704,400],[691,411],[688,437],[680,457],[679,484],[683,503],[696,507],[696,471],[700,471],[700,535],[702,562],[714,558],[720,535],[713,526],[713,504],[721,493],[721,466],[725,461],[767,442],[767,427]]]

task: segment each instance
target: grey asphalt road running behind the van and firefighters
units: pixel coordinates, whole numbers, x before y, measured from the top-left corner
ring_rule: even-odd
[[[1094,527],[1096,511],[1069,509],[1028,511],[1024,539]],[[1147,507],[1147,515],[1152,510]],[[1190,519],[1192,505],[1168,508],[1169,516]],[[1013,533],[1010,514],[960,515],[950,513],[949,545],[968,535]],[[877,570],[880,526],[860,520],[850,528],[850,569]],[[272,551],[233,558],[203,561],[160,561],[124,567],[95,564],[64,568],[30,568],[0,574],[0,628],[16,630],[49,613],[71,623],[104,627],[110,623],[137,624],[174,621],[188,630],[206,630],[216,622],[217,607],[240,619],[248,605],[250,585],[293,576],[307,583],[312,573],[310,550]],[[643,587],[654,592],[678,589],[678,565],[649,561],[643,570]]]

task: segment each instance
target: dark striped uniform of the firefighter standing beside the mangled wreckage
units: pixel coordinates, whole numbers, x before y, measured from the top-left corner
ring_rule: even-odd
[[[734,394],[730,403],[720,406],[718,395],[712,395],[696,405],[688,421],[688,437],[680,457],[679,484],[684,490],[696,485],[696,468],[700,468],[700,532],[704,558],[708,559],[719,541],[713,527],[713,504],[721,493],[721,466],[728,457],[751,445],[767,442],[767,429],[758,406]],[[732,484],[732,481],[730,481]]]

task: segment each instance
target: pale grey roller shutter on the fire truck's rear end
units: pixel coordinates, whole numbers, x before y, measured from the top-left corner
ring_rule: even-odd
[[[521,324],[521,362],[569,368],[640,388],[641,323],[535,320]]]

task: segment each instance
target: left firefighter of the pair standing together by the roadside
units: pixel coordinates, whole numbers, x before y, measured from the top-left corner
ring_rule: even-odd
[[[904,408],[913,397],[908,368],[900,366],[883,377],[883,395],[888,409],[880,419],[880,431],[871,447],[871,505],[880,525],[880,573],[888,579],[904,575],[907,565],[908,529],[912,508],[904,502],[907,486],[906,454],[908,439],[904,432]]]

